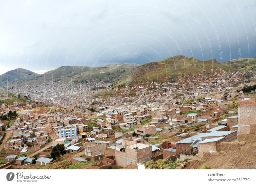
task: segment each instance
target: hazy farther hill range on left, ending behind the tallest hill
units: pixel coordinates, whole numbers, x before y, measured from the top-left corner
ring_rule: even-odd
[[[127,73],[134,70],[139,64],[109,64],[102,67],[62,66],[44,74],[36,74],[24,69],[16,69],[0,75],[0,83],[41,84],[44,82],[70,82],[97,80],[114,82],[120,80]]]

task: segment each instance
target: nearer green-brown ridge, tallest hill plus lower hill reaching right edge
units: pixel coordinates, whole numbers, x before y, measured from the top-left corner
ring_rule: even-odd
[[[210,75],[214,70],[237,71],[256,70],[256,58],[234,59],[224,63],[209,59],[205,61],[194,57],[173,56],[159,62],[145,63],[127,74],[117,85],[148,80],[171,81],[182,75]]]

